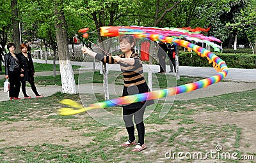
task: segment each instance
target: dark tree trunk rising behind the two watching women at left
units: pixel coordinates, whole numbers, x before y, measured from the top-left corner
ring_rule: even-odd
[[[19,10],[17,0],[12,0],[12,24],[13,24],[13,43],[16,45],[15,53],[20,53],[20,27],[19,27]]]

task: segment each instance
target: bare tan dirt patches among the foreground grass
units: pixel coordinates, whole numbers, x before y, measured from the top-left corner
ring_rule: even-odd
[[[227,83],[225,83],[227,84]],[[247,85],[247,86],[246,86]],[[223,87],[226,87],[225,85]],[[243,83],[243,87],[249,89],[255,89],[255,83]],[[237,89],[237,85],[234,85],[232,92]],[[239,89],[237,89],[239,90]],[[54,115],[54,114],[53,114]],[[239,111],[239,113],[230,112],[202,112],[191,116],[195,122],[202,124],[236,124],[237,127],[241,127],[243,132],[241,134],[239,149],[244,153],[256,153],[256,115],[255,111]],[[83,120],[83,116],[76,120]],[[177,122],[173,120],[168,125],[153,125],[152,127],[146,127],[147,132],[161,131],[164,129],[172,129],[175,127],[192,127],[193,124],[175,125]],[[147,125],[147,124],[146,124]],[[152,124],[150,124],[152,125]],[[93,137],[84,139],[83,133],[86,129],[79,129],[70,132],[70,127],[58,127],[51,122],[42,121],[20,121],[20,122],[0,122],[0,146],[33,146],[42,143],[51,143],[54,145],[60,145],[65,141],[66,146],[86,146],[92,142]],[[118,132],[114,139],[119,139],[120,136],[126,135],[125,129]],[[248,146],[249,145],[249,146]],[[149,145],[148,147],[154,145]],[[150,152],[150,150],[148,150]]]

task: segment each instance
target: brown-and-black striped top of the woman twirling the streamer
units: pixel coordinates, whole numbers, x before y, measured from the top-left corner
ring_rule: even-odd
[[[118,55],[120,58],[125,58],[125,54]],[[98,59],[104,63],[108,64],[120,64],[120,68],[122,74],[124,76],[124,86],[130,87],[132,85],[140,85],[142,83],[146,83],[144,75],[143,75],[143,68],[142,62],[140,59],[140,55],[138,53],[132,53],[131,58],[134,59],[134,64],[129,65],[125,62],[116,62],[113,57],[102,55],[97,53],[95,59]]]

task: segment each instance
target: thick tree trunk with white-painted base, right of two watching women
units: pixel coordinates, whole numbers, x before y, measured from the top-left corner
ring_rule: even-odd
[[[55,15],[57,15],[57,19],[55,27],[60,63],[62,92],[67,94],[76,94],[74,72],[70,62],[70,55],[68,53],[67,22],[65,20],[63,11],[59,7],[60,6],[56,4]]]

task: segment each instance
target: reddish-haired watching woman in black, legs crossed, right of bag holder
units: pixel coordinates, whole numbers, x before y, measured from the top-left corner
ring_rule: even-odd
[[[25,99],[31,98],[31,96],[28,96],[28,94],[26,93],[26,81],[28,81],[29,84],[31,85],[31,89],[35,93],[36,98],[44,97],[38,94],[35,87],[35,82],[34,82],[35,69],[34,69],[34,64],[33,64],[31,54],[28,53],[28,45],[25,45],[24,43],[22,43],[22,45],[20,45],[20,50],[21,50],[21,53],[18,54],[18,58],[20,60],[20,67],[22,69],[22,73],[24,74],[24,76],[21,78],[21,90],[24,94],[24,98]]]

